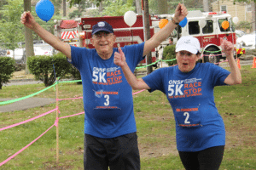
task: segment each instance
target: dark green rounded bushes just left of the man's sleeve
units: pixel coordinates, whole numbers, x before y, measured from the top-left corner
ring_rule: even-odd
[[[71,65],[67,62],[64,54],[58,53],[52,57],[46,55],[29,57],[27,66],[36,80],[44,82],[45,87],[47,87],[54,84],[55,77],[64,77]]]

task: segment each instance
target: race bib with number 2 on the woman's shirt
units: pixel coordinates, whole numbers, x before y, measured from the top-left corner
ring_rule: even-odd
[[[199,107],[176,108],[174,115],[180,127],[201,127],[201,115]]]

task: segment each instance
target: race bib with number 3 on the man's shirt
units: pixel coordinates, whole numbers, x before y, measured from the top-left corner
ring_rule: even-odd
[[[94,109],[119,109],[119,90],[104,91],[97,90],[95,92]]]

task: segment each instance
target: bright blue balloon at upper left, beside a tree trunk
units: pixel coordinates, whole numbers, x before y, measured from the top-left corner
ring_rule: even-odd
[[[41,20],[47,22],[55,14],[55,7],[49,0],[41,0],[36,5],[36,13]]]

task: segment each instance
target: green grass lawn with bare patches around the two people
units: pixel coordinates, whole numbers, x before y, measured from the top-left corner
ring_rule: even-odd
[[[256,169],[256,69],[242,66],[242,84],[214,89],[215,103],[226,127],[226,147],[220,169]],[[20,98],[44,89],[44,85],[3,87],[0,98]],[[82,86],[60,83],[59,98],[82,96]],[[50,88],[36,97],[55,98]],[[83,110],[82,99],[59,103],[60,116]],[[0,127],[25,121],[55,104],[26,111],[0,113]],[[134,95],[134,111],[142,169],[184,169],[177,155],[175,121],[166,96],[159,91]],[[33,122],[0,132],[0,162],[38,138],[55,122],[55,112]],[[83,169],[84,115],[60,119],[60,158],[56,163],[55,127],[0,169]]]

